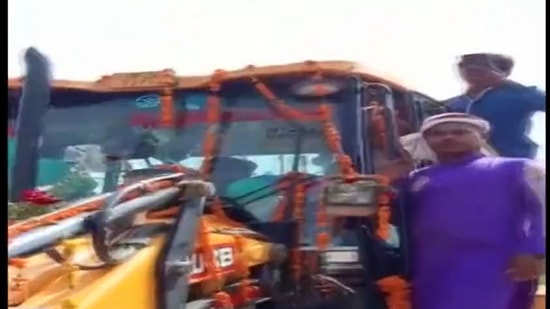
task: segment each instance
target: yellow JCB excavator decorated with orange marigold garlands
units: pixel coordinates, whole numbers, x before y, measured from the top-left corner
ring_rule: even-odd
[[[410,308],[399,136],[434,99],[344,61],[75,82],[25,59],[8,207],[41,214],[8,226],[9,308]]]

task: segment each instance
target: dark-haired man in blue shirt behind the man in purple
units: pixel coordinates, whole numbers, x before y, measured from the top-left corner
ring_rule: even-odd
[[[468,88],[447,106],[489,121],[489,143],[501,156],[532,159],[537,145],[526,134],[533,114],[546,112],[546,94],[507,79],[513,66],[510,57],[498,54],[461,56],[458,68]]]

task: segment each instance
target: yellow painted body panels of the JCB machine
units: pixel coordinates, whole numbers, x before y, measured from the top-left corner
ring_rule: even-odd
[[[214,215],[204,215],[201,220],[207,226],[207,250],[230,249],[233,261],[244,260],[249,267],[268,262],[271,244],[243,237],[242,251],[237,251],[235,236],[221,234],[223,229],[238,228]],[[155,308],[155,263],[164,245],[165,236],[155,236],[128,261],[113,267],[97,270],[77,270],[71,265],[93,265],[99,261],[91,245],[90,237],[72,239],[73,253],[67,265],[59,264],[40,253],[24,259],[25,266],[8,267],[8,302],[10,308]],[[192,290],[196,293],[211,292],[216,279],[208,276],[200,248],[196,246],[192,257],[194,267],[190,276]],[[223,267],[225,266],[225,267]],[[242,279],[232,265],[218,265],[226,282]],[[18,304],[18,305],[15,305]],[[15,305],[15,306],[14,306]]]

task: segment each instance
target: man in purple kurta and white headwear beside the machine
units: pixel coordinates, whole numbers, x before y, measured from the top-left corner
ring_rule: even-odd
[[[485,157],[488,122],[463,113],[425,120],[438,162],[410,176],[415,309],[531,309],[544,272],[545,170]]]

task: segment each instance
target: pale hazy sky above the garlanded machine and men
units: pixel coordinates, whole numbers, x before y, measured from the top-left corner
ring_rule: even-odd
[[[512,78],[544,89],[545,0],[8,0],[9,76],[33,45],[59,79],[173,68],[353,60],[436,98],[461,91],[461,53],[516,59]],[[533,138],[544,143],[544,117]],[[544,152],[541,152],[541,156]]]

